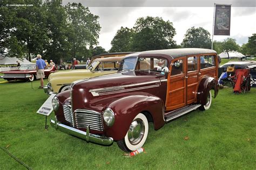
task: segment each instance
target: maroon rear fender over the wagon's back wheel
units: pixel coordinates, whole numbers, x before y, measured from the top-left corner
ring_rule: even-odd
[[[218,81],[215,78],[208,76],[202,78],[198,86],[197,101],[199,104],[205,105],[207,103],[207,94],[211,89],[214,89],[215,98],[219,92]]]

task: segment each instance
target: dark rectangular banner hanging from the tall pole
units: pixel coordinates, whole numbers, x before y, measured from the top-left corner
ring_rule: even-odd
[[[231,5],[215,5],[214,36],[230,35]]]

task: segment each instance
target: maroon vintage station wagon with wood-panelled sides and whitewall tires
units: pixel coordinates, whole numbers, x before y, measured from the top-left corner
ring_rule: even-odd
[[[75,81],[53,98],[57,130],[125,152],[144,145],[149,122],[158,130],[188,112],[208,110],[218,94],[217,54],[171,49],[127,55],[118,73]],[[211,94],[211,90],[214,94]]]

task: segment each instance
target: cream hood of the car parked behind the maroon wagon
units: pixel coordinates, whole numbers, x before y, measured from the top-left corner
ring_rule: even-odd
[[[90,75],[90,70],[71,70],[71,71],[59,71],[55,73],[51,73],[49,76],[49,81],[52,79],[69,79],[74,77],[84,77],[88,78],[86,75]]]

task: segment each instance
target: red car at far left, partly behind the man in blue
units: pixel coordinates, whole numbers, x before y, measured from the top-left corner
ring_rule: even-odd
[[[45,69],[44,74],[47,78],[50,73],[55,72],[55,66],[51,67],[51,69]],[[4,75],[0,76],[0,78],[3,78],[5,80],[11,81],[11,80],[30,80],[33,81],[36,79],[36,64],[26,64],[21,65],[18,67],[17,70],[11,70],[11,71],[4,71],[1,72]]]

